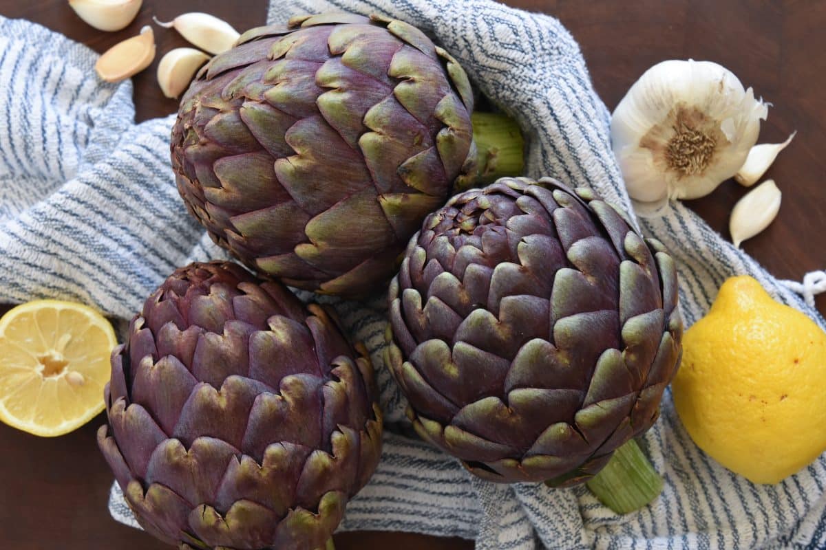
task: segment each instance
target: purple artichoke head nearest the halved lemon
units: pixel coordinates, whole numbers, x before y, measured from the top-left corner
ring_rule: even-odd
[[[369,360],[334,320],[240,266],[192,264],[112,353],[97,442],[150,534],[178,548],[322,548],[373,474]]]

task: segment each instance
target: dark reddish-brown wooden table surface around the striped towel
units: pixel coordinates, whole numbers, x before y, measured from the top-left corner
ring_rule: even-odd
[[[826,268],[826,2],[762,0],[511,0],[557,16],[582,45],[596,89],[613,108],[643,71],[662,59],[710,59],[733,70],[774,107],[760,140],[776,143],[798,130],[769,176],[783,190],[783,206],[765,233],[745,250],[775,275],[799,280]],[[243,30],[264,22],[266,0],[145,0],[125,31],[86,26],[64,1],[0,0],[0,14],[23,17],[102,52],[135,35],[151,16],[211,12]],[[156,29],[158,57],[184,45],[173,31]],[[157,63],[156,59],[156,63]],[[172,113],[155,82],[155,65],[135,77],[137,117]],[[733,204],[744,194],[729,181],[691,206],[727,234]],[[826,314],[826,295],[818,299]],[[99,417],[83,429],[43,440],[0,425],[0,546],[15,550],[151,550],[169,548],[110,519],[106,502],[112,474],[95,443]],[[458,539],[411,534],[353,533],[338,548],[472,548]]]

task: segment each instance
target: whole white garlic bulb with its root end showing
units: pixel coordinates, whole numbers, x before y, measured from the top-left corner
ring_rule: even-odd
[[[717,63],[649,68],[611,117],[611,145],[638,214],[708,195],[737,173],[767,114],[752,88]]]

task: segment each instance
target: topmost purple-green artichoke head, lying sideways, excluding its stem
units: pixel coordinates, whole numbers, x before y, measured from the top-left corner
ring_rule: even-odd
[[[178,190],[251,269],[366,294],[472,169],[472,107],[463,68],[403,21],[332,13],[260,27],[183,96]]]

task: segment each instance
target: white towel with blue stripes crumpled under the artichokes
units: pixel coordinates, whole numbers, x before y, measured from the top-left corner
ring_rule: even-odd
[[[591,186],[630,208],[609,146],[609,112],[577,43],[558,21],[484,0],[273,2],[270,21],[327,9],[380,12],[431,32],[529,139],[527,175]],[[225,257],[183,208],[169,167],[173,118],[133,123],[131,83],[94,77],[96,55],[26,21],[0,17],[0,302],[52,297],[120,319],[177,266]],[[686,325],[729,275],[753,275],[783,303],[824,318],[680,204],[642,223],[672,251]],[[303,299],[310,299],[306,294]],[[582,487],[495,485],[405,430],[404,399],[382,369],[382,295],[337,302],[379,367],[387,421],[372,481],[341,529],[475,538],[477,548],[826,548],[826,458],[773,487],[752,485],[691,442],[672,407],[643,444],[662,496],[615,515]],[[112,515],[135,525],[117,487]]]

